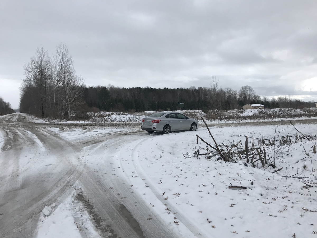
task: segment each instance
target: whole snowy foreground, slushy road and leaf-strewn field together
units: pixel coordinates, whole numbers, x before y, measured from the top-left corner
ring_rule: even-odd
[[[272,174],[268,165],[246,167],[244,159],[193,156],[205,148],[196,134],[211,141],[204,127],[148,135],[138,124],[49,125],[28,118],[0,117],[1,238],[316,236],[316,140],[275,148],[282,169]],[[296,128],[316,136],[317,124],[305,123]],[[219,144],[249,136],[253,147],[261,138],[299,134],[285,122],[210,130]],[[272,146],[266,149],[272,158]],[[288,178],[294,174],[299,178]],[[228,189],[230,183],[247,189]]]

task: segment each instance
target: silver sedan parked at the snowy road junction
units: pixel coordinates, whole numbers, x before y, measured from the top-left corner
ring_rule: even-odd
[[[198,128],[198,122],[179,112],[157,112],[151,116],[144,117],[141,123],[141,129],[148,133],[155,131],[168,134],[171,131],[192,130]]]

